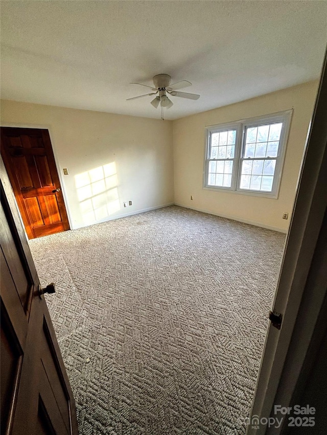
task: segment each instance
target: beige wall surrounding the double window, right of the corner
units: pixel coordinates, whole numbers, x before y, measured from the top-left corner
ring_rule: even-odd
[[[262,95],[173,121],[175,203],[286,232],[318,82]],[[205,127],[293,108],[284,169],[277,199],[205,190]],[[191,200],[191,195],[194,199]],[[282,218],[283,212],[289,219]]]

